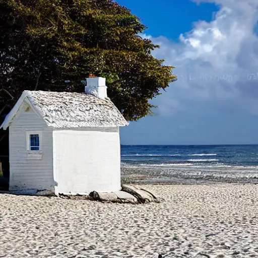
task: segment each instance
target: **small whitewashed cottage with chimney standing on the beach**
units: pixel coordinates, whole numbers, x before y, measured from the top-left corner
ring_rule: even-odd
[[[1,125],[10,132],[9,189],[118,191],[127,124],[105,78],[88,78],[85,93],[24,91]]]

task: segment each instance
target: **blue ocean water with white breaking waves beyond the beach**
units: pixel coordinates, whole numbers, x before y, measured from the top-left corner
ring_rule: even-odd
[[[258,178],[258,145],[121,146],[121,168],[160,178]]]

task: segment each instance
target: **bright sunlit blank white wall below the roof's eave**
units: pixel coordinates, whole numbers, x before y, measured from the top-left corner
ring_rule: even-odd
[[[55,193],[89,193],[120,189],[118,128],[53,131]]]

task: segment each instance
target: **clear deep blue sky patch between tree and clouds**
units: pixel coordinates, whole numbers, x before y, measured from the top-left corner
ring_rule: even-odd
[[[182,32],[192,29],[192,22],[198,20],[210,21],[213,13],[218,11],[215,4],[201,3],[199,6],[189,0],[118,0],[122,6],[132,10],[143,24],[145,31],[153,37],[166,36],[172,40],[178,39]],[[180,26],[178,26],[180,24]]]

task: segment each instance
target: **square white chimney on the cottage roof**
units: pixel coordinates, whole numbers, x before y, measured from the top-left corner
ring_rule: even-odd
[[[85,93],[94,95],[100,99],[107,98],[106,78],[95,77],[87,78],[87,86],[85,86]]]

